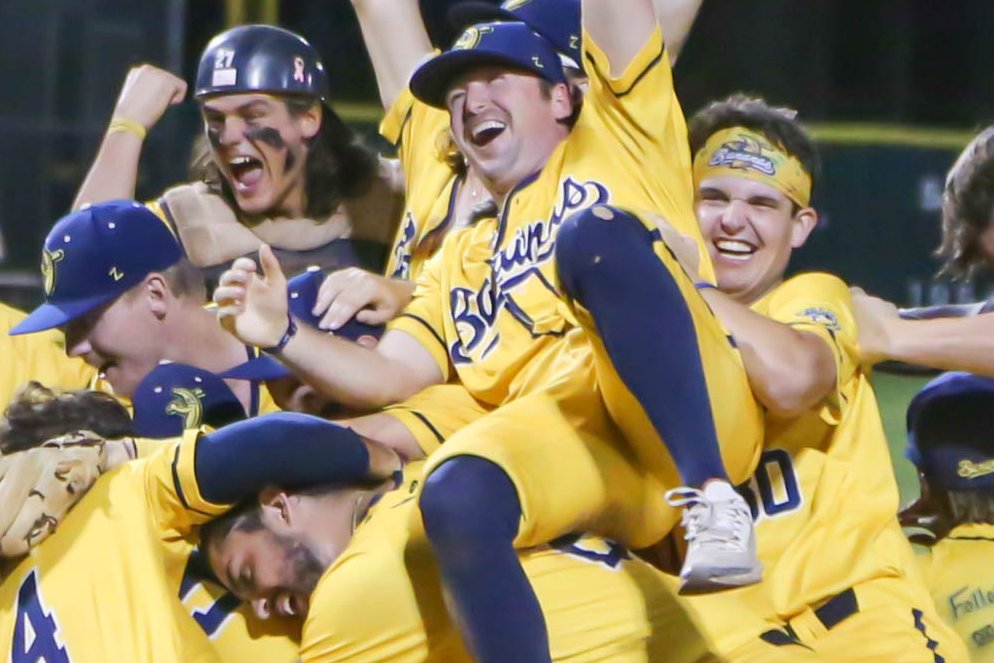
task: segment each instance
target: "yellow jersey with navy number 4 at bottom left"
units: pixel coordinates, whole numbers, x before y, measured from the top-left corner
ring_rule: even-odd
[[[101,477],[4,578],[6,660],[295,660],[292,624],[259,622],[208,580],[191,528],[223,507],[200,495],[195,437]]]

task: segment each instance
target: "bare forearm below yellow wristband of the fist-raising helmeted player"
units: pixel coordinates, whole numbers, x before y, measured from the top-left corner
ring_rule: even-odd
[[[105,200],[134,198],[142,143],[141,138],[124,131],[105,135],[72,208],[77,210],[83,205]]]

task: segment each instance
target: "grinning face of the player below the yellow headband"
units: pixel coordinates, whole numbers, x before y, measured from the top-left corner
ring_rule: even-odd
[[[779,189],[734,176],[697,183],[697,220],[718,277],[718,287],[743,304],[762,297],[783,280],[794,249],[817,223],[806,207]]]

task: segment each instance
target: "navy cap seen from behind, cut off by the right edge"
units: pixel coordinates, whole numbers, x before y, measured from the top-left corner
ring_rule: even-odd
[[[944,373],[908,406],[905,456],[946,490],[994,488],[994,380]]]

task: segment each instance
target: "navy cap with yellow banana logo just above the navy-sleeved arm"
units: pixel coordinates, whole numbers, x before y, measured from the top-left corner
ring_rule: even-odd
[[[238,397],[214,373],[163,362],[145,376],[131,399],[141,437],[178,437],[184,430],[220,428],[245,418]]]

